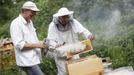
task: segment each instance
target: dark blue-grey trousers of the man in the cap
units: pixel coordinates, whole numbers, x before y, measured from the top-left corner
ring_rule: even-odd
[[[22,67],[19,66],[23,71],[26,72],[27,75],[44,75],[38,65],[30,66],[30,67]]]

